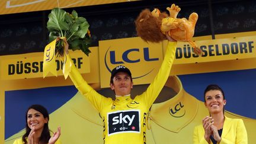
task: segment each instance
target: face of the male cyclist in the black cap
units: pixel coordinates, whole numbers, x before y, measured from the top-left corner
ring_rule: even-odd
[[[110,83],[110,88],[115,91],[116,95],[130,94],[133,88],[132,78],[126,72],[116,73],[113,83]]]

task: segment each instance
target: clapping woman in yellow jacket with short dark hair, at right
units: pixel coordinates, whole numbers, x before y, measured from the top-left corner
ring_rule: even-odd
[[[193,141],[196,143],[236,143],[247,144],[247,130],[242,119],[231,119],[224,114],[226,99],[218,85],[209,85],[204,91],[204,105],[210,116],[194,129]]]

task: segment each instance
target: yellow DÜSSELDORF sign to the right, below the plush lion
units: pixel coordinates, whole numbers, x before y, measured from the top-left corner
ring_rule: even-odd
[[[216,62],[220,60],[248,59],[256,57],[256,36],[236,37],[232,39],[196,41],[203,51],[195,55],[188,43],[178,43],[175,64]]]

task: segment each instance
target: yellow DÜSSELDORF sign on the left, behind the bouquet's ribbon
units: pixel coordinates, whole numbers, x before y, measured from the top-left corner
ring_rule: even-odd
[[[89,73],[90,65],[88,56],[84,55],[81,51],[70,52],[73,63],[75,63],[79,72]],[[25,55],[17,55],[14,59],[1,60],[1,79],[25,79],[25,78],[41,78],[43,77],[43,53],[28,53]],[[57,58],[56,71],[57,75],[63,75],[62,61]],[[49,76],[53,76],[49,73]]]

